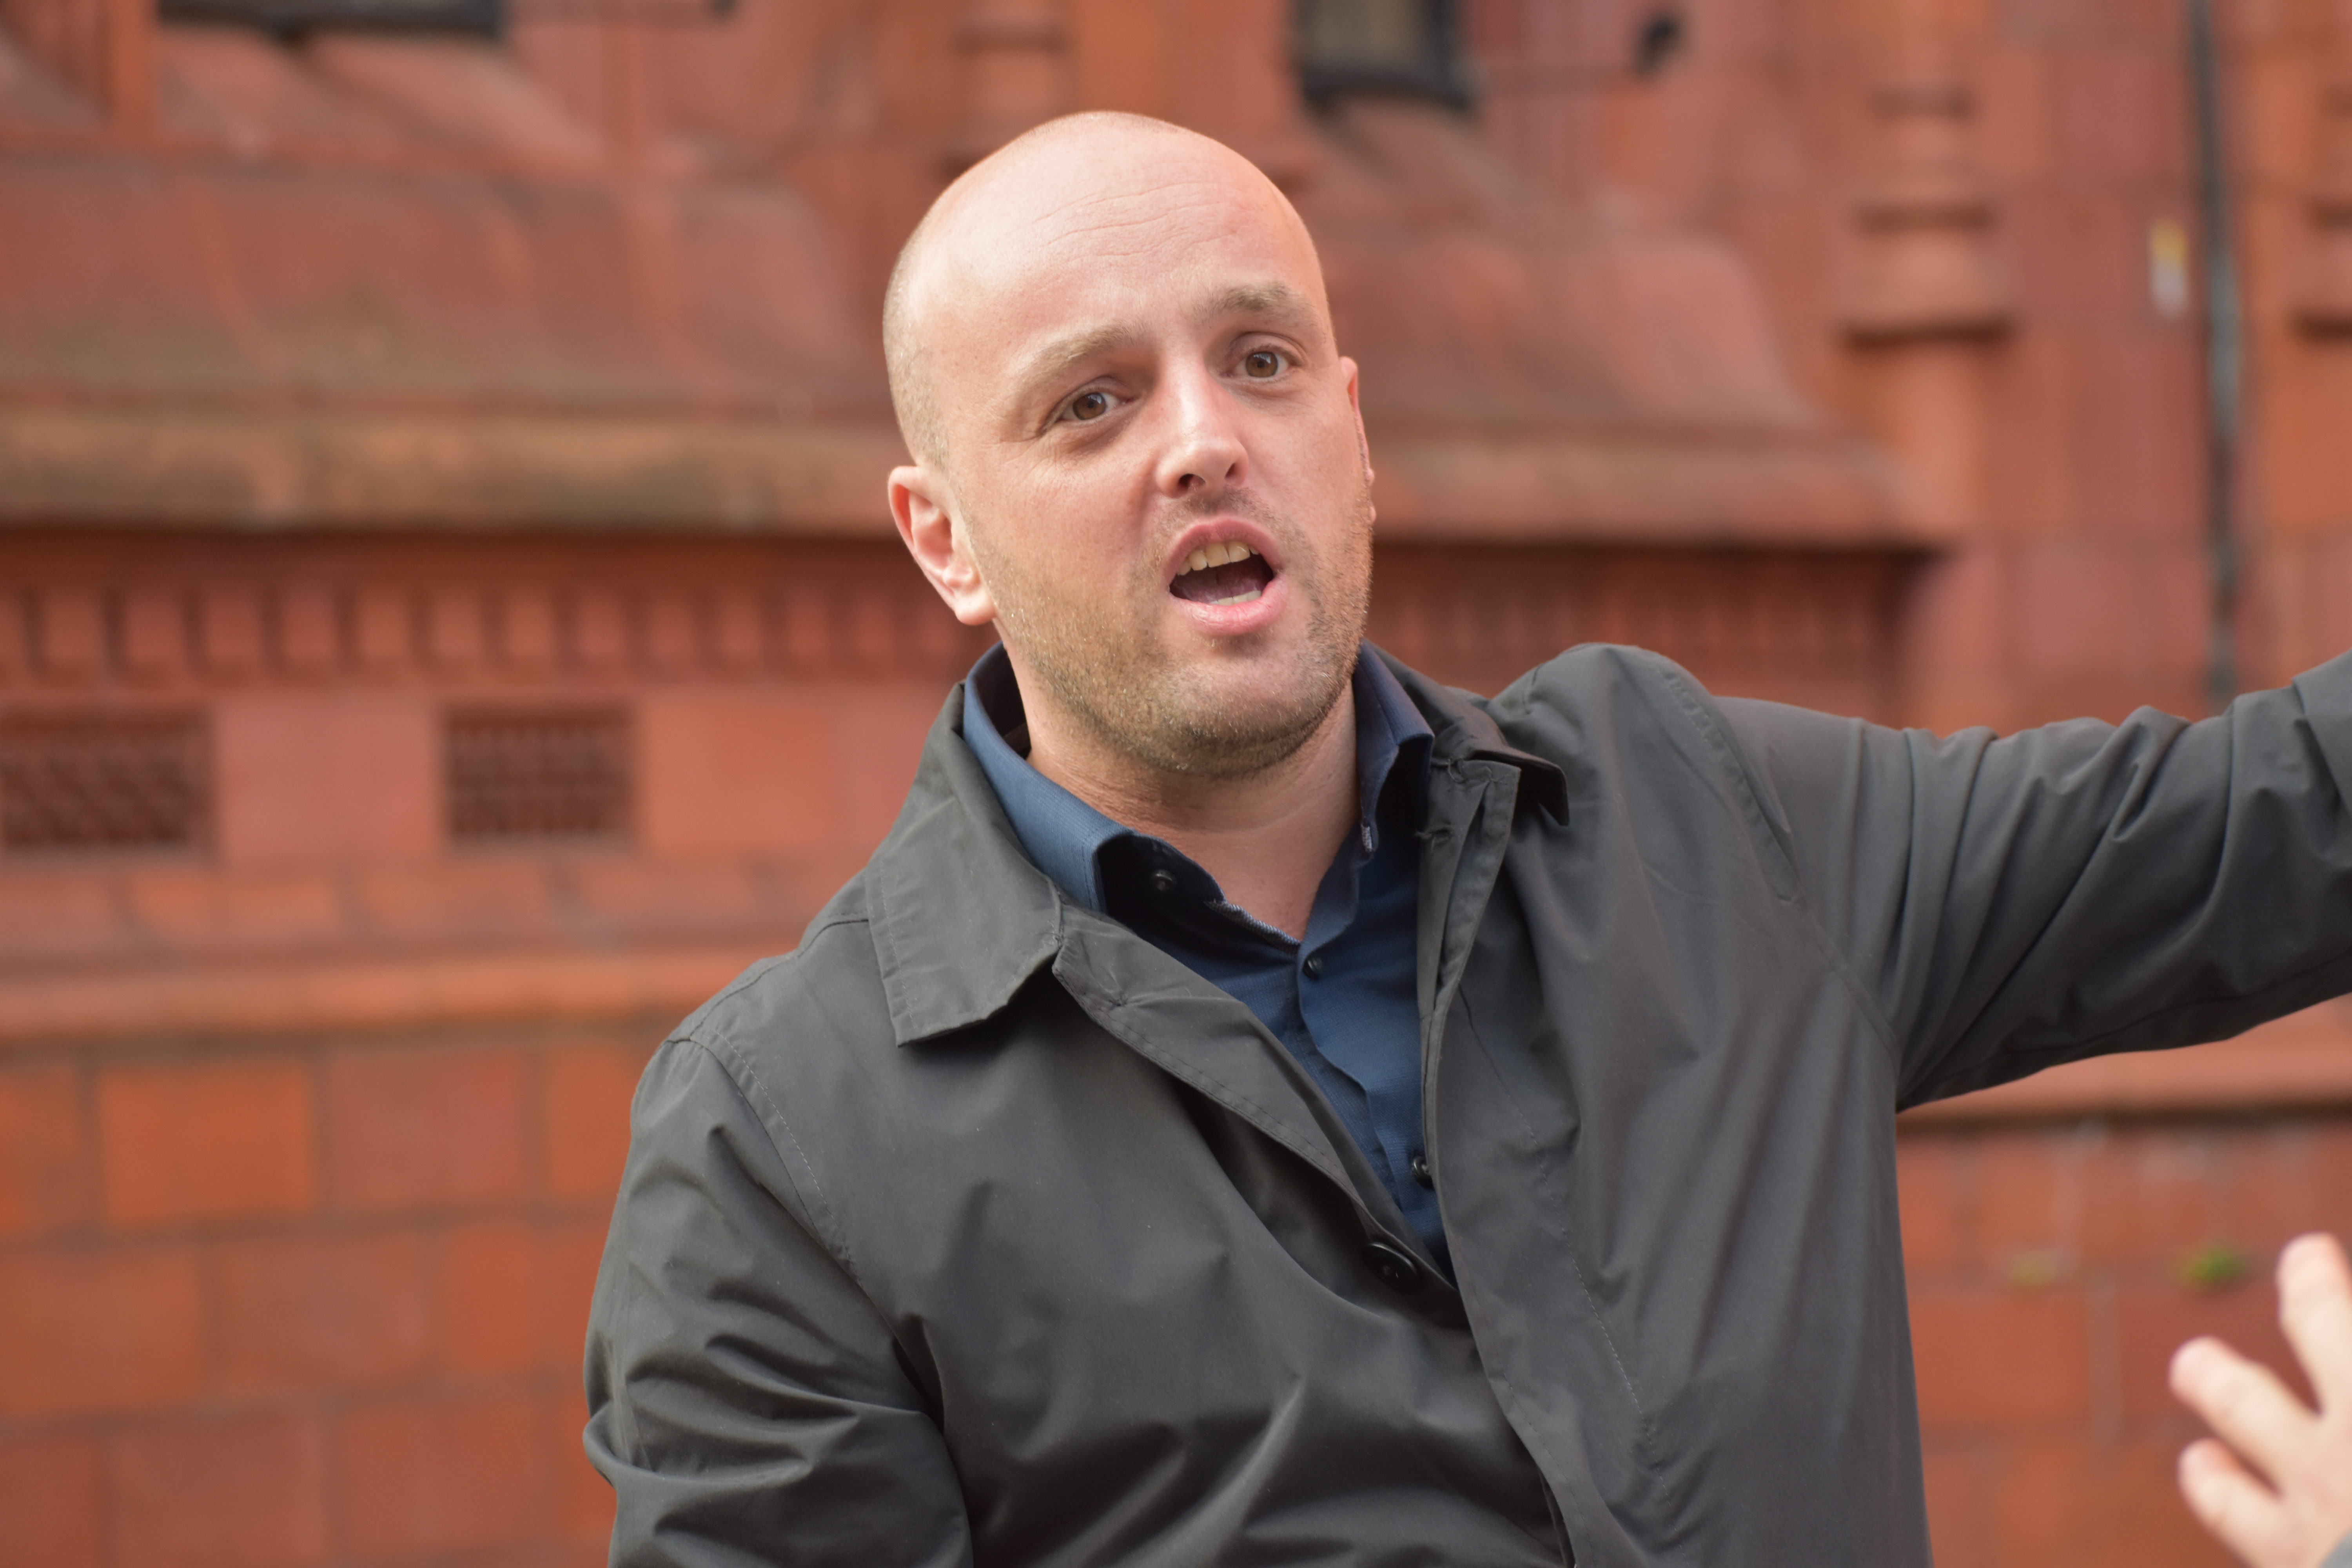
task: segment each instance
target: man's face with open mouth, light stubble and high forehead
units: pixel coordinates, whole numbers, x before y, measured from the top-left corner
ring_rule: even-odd
[[[1312,244],[1218,153],[1160,139],[1122,179],[1068,148],[976,219],[927,320],[950,510],[1030,708],[1242,776],[1348,686],[1371,494]]]

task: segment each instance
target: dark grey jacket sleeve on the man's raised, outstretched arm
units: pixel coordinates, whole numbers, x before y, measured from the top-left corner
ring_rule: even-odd
[[[2352,987],[2352,656],[2197,724],[1936,738],[1722,712],[1903,1105]]]

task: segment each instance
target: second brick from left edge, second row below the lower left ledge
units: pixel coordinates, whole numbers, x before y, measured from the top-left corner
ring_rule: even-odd
[[[433,1286],[414,1234],[233,1241],[212,1276],[221,1389],[383,1385],[430,1359]]]

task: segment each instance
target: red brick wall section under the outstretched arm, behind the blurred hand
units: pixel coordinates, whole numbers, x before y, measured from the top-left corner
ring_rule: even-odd
[[[2197,1333],[2293,1368],[2270,1265],[2352,1232],[2352,1117],[1926,1124],[1900,1161],[1940,1568],[2227,1563],[2164,1368]]]

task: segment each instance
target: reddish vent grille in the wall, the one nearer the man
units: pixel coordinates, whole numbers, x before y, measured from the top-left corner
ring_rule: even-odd
[[[452,712],[442,757],[456,844],[628,835],[630,736],[619,708]]]

